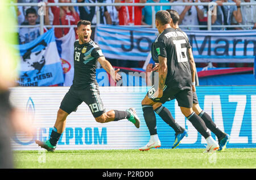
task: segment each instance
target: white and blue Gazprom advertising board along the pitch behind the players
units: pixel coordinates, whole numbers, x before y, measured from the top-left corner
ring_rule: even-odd
[[[34,137],[17,134],[13,138],[15,150],[37,150],[35,140],[45,141],[51,134],[60,102],[69,87],[14,87],[11,101],[30,113],[30,121],[37,131]],[[128,120],[97,123],[89,107],[82,103],[67,118],[67,124],[57,149],[138,149],[150,139],[144,122],[141,101],[149,87],[100,87],[106,111],[135,107],[141,119],[137,129]],[[256,147],[256,86],[199,86],[199,104],[212,116],[218,127],[230,135],[227,148]],[[204,138],[181,114],[176,101],[164,104],[177,123],[188,129],[188,137],[177,148],[205,148]],[[160,148],[171,148],[175,132],[156,114]],[[212,134],[213,135],[213,134]],[[216,139],[216,137],[213,135]]]

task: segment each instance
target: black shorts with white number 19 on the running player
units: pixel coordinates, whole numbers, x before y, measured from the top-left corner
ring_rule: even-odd
[[[60,109],[71,114],[71,112],[77,110],[77,107],[82,102],[89,106],[94,118],[101,116],[105,112],[97,82],[90,83],[89,87],[83,90],[73,89],[71,86],[60,103]]]

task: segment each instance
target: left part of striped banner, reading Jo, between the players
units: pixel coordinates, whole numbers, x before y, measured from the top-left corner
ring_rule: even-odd
[[[95,41],[107,58],[144,61],[156,35],[152,28],[100,25]]]

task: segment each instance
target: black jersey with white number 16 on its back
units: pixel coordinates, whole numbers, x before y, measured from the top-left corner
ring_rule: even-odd
[[[188,36],[180,28],[167,28],[152,44],[151,53],[155,62],[158,62],[158,56],[167,58],[167,86],[180,90],[191,88],[189,48]]]

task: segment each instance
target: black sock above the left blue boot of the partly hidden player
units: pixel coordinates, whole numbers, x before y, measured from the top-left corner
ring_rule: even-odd
[[[181,133],[184,131],[184,128],[180,127],[180,125],[175,122],[171,112],[163,105],[156,108],[155,112],[164,120],[164,122],[170,125],[170,127],[172,127],[176,133]]]

